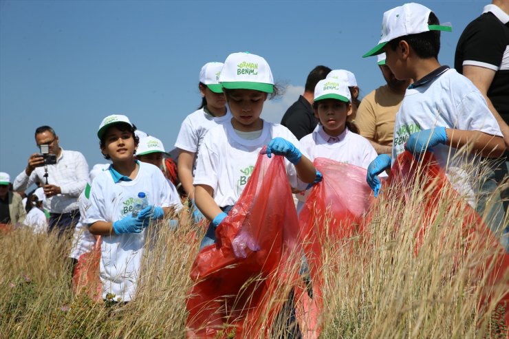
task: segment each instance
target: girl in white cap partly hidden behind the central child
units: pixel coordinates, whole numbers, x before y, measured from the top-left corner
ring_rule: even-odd
[[[202,106],[182,122],[175,142],[175,147],[180,150],[177,161],[178,175],[191,201],[195,222],[203,219],[203,215],[195,206],[195,188],[193,186],[196,160],[199,158],[199,146],[209,129],[231,118],[223,89],[219,85],[219,74],[221,74],[222,68],[222,63],[206,63],[202,67],[199,72],[198,84],[202,94]]]

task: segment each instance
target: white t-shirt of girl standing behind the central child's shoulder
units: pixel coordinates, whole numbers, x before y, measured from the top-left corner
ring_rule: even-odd
[[[205,113],[204,109],[198,109],[189,114],[180,126],[179,135],[175,147],[184,151],[195,153],[195,163],[193,164],[193,175],[195,173],[196,162],[198,159],[199,146],[202,144],[205,134],[209,129],[213,129],[218,124],[230,121],[232,114],[230,108],[226,105],[226,114],[224,116],[214,117]]]

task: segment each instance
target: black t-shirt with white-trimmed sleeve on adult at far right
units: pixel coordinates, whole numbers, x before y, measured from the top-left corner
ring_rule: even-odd
[[[454,67],[462,74],[463,62],[475,61],[499,67],[488,89],[488,98],[509,124],[509,23],[505,25],[486,12],[469,23],[459,37]]]

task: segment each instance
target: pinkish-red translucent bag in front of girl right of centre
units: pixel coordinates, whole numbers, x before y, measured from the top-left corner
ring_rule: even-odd
[[[313,298],[305,289],[296,292],[297,318],[303,338],[318,338],[321,331],[318,317],[323,308],[323,244],[338,246],[351,237],[365,237],[363,224],[373,202],[364,168],[326,158],[316,158],[314,166],[322,173],[323,180],[314,186],[299,215],[313,290]]]

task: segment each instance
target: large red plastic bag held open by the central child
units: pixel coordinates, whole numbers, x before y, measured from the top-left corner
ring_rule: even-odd
[[[284,158],[260,154],[239,201],[216,230],[217,243],[199,252],[187,298],[188,337],[262,338],[285,301],[281,285],[296,280],[299,221]],[[246,259],[232,241],[251,237]],[[300,253],[300,250],[299,252]],[[296,268],[295,268],[296,267]]]

